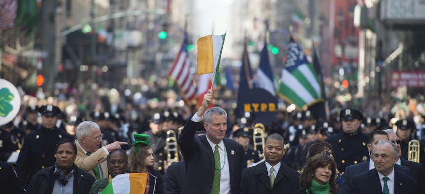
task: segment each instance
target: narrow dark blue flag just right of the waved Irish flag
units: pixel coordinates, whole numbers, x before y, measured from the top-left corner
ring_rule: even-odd
[[[244,97],[245,92],[253,88],[253,71],[248,58],[247,44],[244,41],[244,52],[242,54],[242,65],[239,78],[238,103]]]

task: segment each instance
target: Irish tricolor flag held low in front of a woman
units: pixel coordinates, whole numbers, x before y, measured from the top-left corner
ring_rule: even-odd
[[[119,174],[102,190],[101,194],[144,194],[146,173]]]

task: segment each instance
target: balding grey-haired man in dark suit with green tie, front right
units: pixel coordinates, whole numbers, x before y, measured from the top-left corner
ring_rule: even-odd
[[[381,140],[372,150],[375,169],[353,177],[350,184],[352,194],[416,194],[418,184],[409,175],[394,169],[397,147]]]

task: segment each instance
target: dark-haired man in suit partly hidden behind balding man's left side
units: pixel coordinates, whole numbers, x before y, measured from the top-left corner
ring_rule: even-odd
[[[370,153],[372,153],[373,148],[378,143],[378,141],[381,140],[388,140],[388,134],[383,130],[374,130],[369,134],[369,144],[368,144],[368,150]],[[342,184],[342,188],[340,193],[341,194],[347,194],[350,189],[350,181],[353,179],[353,177],[357,174],[369,171],[371,169],[374,169],[375,165],[373,162],[373,156],[371,156],[371,159],[367,162],[358,163],[355,165],[348,166],[345,168],[345,175],[344,175],[344,182]],[[395,164],[394,165],[395,170],[399,170],[405,174],[408,174],[409,168]]]

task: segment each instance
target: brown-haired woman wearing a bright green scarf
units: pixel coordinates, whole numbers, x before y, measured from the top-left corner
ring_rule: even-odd
[[[336,164],[326,154],[317,154],[308,159],[299,178],[300,190],[294,194],[335,194]]]

